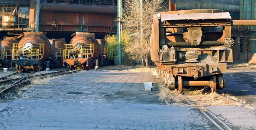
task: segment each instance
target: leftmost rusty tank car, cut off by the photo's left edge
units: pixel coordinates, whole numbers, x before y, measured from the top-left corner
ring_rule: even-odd
[[[12,67],[12,46],[13,43],[19,43],[17,37],[4,37],[1,42],[0,67]]]

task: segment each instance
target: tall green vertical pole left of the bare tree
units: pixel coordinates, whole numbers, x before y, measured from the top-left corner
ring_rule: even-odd
[[[120,21],[121,0],[117,0],[117,50],[118,64],[121,64],[121,21]]]

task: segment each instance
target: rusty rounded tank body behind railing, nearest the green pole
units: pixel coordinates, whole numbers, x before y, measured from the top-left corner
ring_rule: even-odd
[[[94,56],[93,59],[96,59],[99,55],[99,43],[95,39],[94,33],[88,32],[76,32],[75,35],[69,44],[73,44],[74,46],[81,45],[81,44],[93,44],[94,45]]]

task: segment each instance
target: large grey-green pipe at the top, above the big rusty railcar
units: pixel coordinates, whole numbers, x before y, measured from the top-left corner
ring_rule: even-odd
[[[240,2],[239,0],[171,0],[171,7],[176,10],[220,9],[224,12],[239,13]]]

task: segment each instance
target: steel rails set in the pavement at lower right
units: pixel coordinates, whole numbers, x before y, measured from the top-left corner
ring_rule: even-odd
[[[195,104],[193,104],[191,101],[189,101],[189,100],[187,100],[187,99],[185,99],[185,101],[187,101],[187,103],[190,104],[190,105],[195,105]],[[199,109],[199,110],[200,110],[200,109]],[[215,116],[213,113],[211,113],[209,110],[207,110],[206,108],[205,108],[205,110],[206,110],[206,112],[204,112],[204,111],[202,111],[202,110],[200,110],[200,111],[201,111],[201,113],[204,114],[204,116],[207,117],[216,127],[218,127],[218,129],[220,129],[220,130],[226,130],[226,129],[228,129],[228,130],[233,130],[233,129],[231,129],[226,123],[224,123],[222,120],[220,120],[220,118],[218,118],[218,117]],[[210,115],[208,115],[207,113],[209,113]],[[218,123],[214,120],[214,118],[211,118],[210,116],[213,116],[219,123],[221,123],[221,125],[218,124]],[[223,127],[221,127],[221,126],[225,126],[226,128],[223,128]]]

